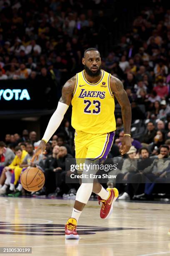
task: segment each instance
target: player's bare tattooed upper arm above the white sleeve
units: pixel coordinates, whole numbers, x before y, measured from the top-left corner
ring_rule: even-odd
[[[75,89],[76,76],[70,78],[62,87],[62,96],[60,102],[67,104],[68,106],[71,103],[72,95]]]

